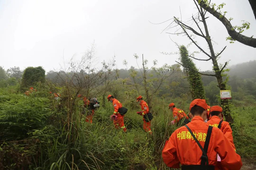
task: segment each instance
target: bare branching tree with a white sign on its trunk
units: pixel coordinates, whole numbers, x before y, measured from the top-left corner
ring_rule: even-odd
[[[223,81],[222,77],[223,77],[223,70],[227,66],[228,62],[226,62],[222,67],[220,67],[219,63],[217,61],[218,58],[220,57],[220,55],[222,54],[222,52],[226,49],[226,47],[224,47],[219,53],[217,53],[217,54],[215,53],[213,44],[212,44],[212,39],[210,37],[209,31],[208,31],[208,26],[206,23],[206,19],[208,17],[205,17],[205,14],[207,11],[203,10],[203,8],[200,7],[196,3],[196,0],[193,0],[193,1],[198,10],[198,14],[193,15],[190,21],[196,25],[195,26],[196,28],[194,28],[193,26],[189,26],[187,23],[181,21],[179,18],[176,18],[176,17],[174,17],[175,24],[172,24],[170,27],[175,27],[175,28],[180,27],[180,28],[177,28],[178,31],[174,32],[173,34],[186,35],[188,37],[188,39],[192,42],[192,44],[194,44],[201,52],[203,52],[208,57],[208,59],[199,59],[194,56],[193,57],[190,56],[190,57],[194,58],[196,60],[199,60],[199,61],[210,61],[211,60],[213,63],[213,70],[214,70],[215,74],[203,74],[197,70],[194,70],[194,71],[200,73],[201,75],[216,77],[217,81],[218,81],[218,87],[220,88],[220,90],[226,90],[226,82]],[[196,29],[198,29],[199,32],[196,31]],[[193,33],[193,36],[203,38],[207,43],[210,53],[208,53],[202,47],[200,47],[200,45],[197,43],[195,38],[190,35],[190,33]],[[179,62],[177,62],[177,63],[179,63]],[[179,63],[179,64],[182,65],[181,63]],[[191,69],[191,68],[187,68],[187,69]],[[233,123],[233,119],[230,115],[230,110],[228,107],[228,100],[227,99],[221,100],[221,106],[223,107],[223,114],[225,115],[226,121]]]

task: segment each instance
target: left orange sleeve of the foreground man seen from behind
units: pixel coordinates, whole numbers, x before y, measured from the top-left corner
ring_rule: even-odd
[[[172,168],[180,168],[180,161],[177,157],[176,146],[174,142],[174,138],[176,133],[173,132],[169,140],[165,142],[164,149],[162,152],[162,157],[164,163]]]

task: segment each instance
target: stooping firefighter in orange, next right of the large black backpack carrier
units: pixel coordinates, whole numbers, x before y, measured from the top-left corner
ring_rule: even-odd
[[[108,101],[110,101],[111,103],[113,103],[113,106],[114,106],[114,113],[113,115],[111,115],[112,119],[113,119],[113,122],[114,122],[114,125],[115,125],[115,128],[118,129],[118,128],[121,128],[124,130],[124,132],[126,132],[126,128],[124,126],[124,115],[121,115],[119,112],[118,112],[118,109],[120,109],[122,106],[122,103],[120,103],[118,100],[116,100],[112,95],[108,95]]]

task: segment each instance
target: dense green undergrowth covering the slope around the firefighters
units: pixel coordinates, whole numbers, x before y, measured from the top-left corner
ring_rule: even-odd
[[[177,129],[169,125],[170,99],[154,100],[151,136],[143,131],[142,117],[136,114],[140,107],[132,105],[125,95],[120,101],[129,108],[125,115],[127,133],[115,129],[109,120],[113,112],[110,103],[100,107],[89,124],[80,114],[82,100],[63,93],[63,100],[57,101],[42,85],[30,96],[18,89],[0,90],[1,170],[169,169],[161,152],[166,139]],[[75,100],[71,115],[65,98]],[[190,99],[186,95],[172,101],[188,111]],[[232,107],[236,149],[246,158],[255,158],[255,112],[255,107]]]

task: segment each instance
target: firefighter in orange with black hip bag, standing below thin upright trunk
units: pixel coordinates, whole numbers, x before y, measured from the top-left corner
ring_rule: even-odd
[[[142,112],[137,112],[139,115],[143,115],[143,129],[152,135],[152,131],[150,129],[151,123],[149,120],[144,119],[144,115],[149,113],[148,104],[146,101],[142,100],[142,96],[137,97],[137,102],[140,102]]]

